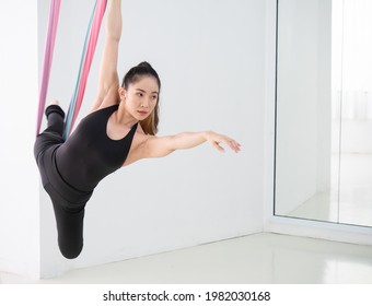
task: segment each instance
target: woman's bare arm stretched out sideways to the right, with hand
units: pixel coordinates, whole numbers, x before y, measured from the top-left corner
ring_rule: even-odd
[[[221,143],[228,145],[232,151],[237,153],[241,150],[241,144],[235,140],[218,134],[212,131],[208,132],[184,132],[168,137],[150,137],[143,143],[141,157],[162,157],[166,156],[175,150],[191,149],[200,145],[204,142],[209,142],[214,149],[224,152]]]

